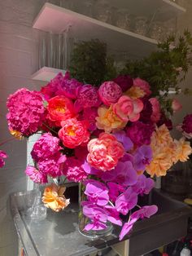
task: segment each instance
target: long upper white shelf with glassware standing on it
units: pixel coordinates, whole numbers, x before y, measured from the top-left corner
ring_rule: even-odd
[[[33,23],[33,29],[52,33],[62,33],[69,26],[72,37],[83,41],[98,38],[107,43],[109,51],[128,51],[144,56],[154,51],[157,45],[155,39],[146,38],[47,2]]]

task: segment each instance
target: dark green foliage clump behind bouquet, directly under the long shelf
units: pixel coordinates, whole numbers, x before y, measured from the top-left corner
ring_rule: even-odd
[[[76,43],[69,71],[78,81],[94,86],[116,76],[113,60],[107,58],[107,45],[97,39]]]

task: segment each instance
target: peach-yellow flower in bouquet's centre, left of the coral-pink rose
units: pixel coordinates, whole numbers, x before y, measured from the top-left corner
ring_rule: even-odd
[[[119,130],[126,126],[126,122],[122,121],[120,117],[117,117],[116,113],[113,112],[112,106],[110,108],[107,108],[104,105],[99,107],[98,117],[95,119],[98,129],[105,130],[106,132]]]

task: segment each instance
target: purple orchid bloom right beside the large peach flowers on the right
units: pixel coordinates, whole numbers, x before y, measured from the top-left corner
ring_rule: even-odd
[[[149,165],[152,159],[152,150],[148,145],[143,145],[137,148],[134,154],[133,166],[136,170],[145,170],[146,165]]]

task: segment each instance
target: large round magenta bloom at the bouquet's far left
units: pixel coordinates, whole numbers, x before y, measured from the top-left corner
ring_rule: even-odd
[[[25,88],[17,90],[7,100],[7,121],[10,130],[29,136],[35,133],[45,118],[41,94]]]

